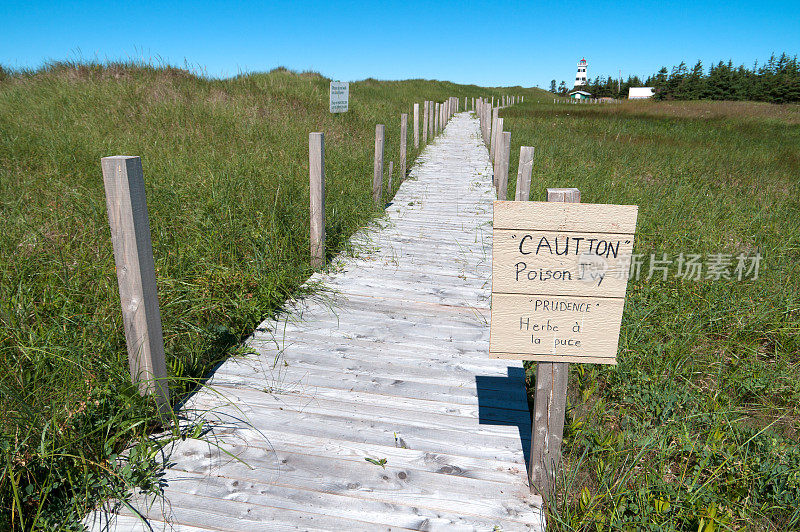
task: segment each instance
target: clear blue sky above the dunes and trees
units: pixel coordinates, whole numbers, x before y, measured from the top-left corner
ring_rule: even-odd
[[[586,6],[591,5],[591,8]],[[211,76],[283,65],[352,81],[480,85],[646,75],[800,54],[800,2],[64,2],[0,0],[0,64],[145,59]]]

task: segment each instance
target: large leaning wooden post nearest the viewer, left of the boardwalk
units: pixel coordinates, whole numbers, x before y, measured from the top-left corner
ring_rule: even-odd
[[[131,379],[139,393],[154,395],[161,419],[166,421],[171,412],[169,381],[142,160],[124,155],[103,157],[100,166]]]

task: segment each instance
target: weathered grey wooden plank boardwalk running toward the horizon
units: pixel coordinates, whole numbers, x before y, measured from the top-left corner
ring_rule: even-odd
[[[493,198],[477,121],[456,115],[355,258],[312,278],[327,290],[189,401],[225,453],[176,446],[168,503],[134,503],[153,529],[541,530],[522,365],[487,356]]]

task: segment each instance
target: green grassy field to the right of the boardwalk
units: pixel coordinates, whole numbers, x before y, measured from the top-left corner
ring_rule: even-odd
[[[619,364],[571,369],[556,529],[800,527],[800,106],[526,101],[501,116],[511,181],[519,147],[536,148],[531,199],[574,186],[639,205]],[[663,253],[730,254],[731,273],[740,253],[763,261],[757,280],[675,263],[648,279]]]

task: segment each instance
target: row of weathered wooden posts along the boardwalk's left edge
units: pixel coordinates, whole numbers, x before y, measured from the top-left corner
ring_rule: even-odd
[[[476,109],[479,101],[483,101],[483,99],[472,98],[473,110]],[[498,99],[498,102],[502,102],[504,105],[515,101],[517,99],[510,96]],[[470,100],[465,97],[465,109],[468,103]],[[433,140],[444,130],[459,108],[460,99],[457,97],[450,97],[442,102],[425,101],[422,104],[422,124],[420,124],[420,104],[415,103],[413,107],[414,148],[419,149],[420,147],[420,132],[423,145],[427,144],[429,139]],[[372,183],[372,196],[376,205],[380,205],[383,197],[385,137],[385,126],[378,124],[375,127],[375,164]],[[408,114],[403,113],[400,115],[401,180],[406,176],[407,137]],[[319,268],[325,264],[325,138],[323,133],[309,134],[308,160],[311,265]],[[166,421],[171,416],[169,383],[142,161],[136,156],[104,157],[101,160],[101,167],[131,378],[139,387],[140,393],[154,396],[162,420]],[[390,191],[392,190],[393,167],[394,161],[391,161],[388,182]]]

